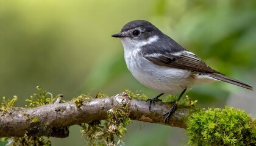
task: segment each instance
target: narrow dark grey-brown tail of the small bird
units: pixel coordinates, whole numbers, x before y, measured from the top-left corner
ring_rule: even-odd
[[[247,85],[246,83],[240,82],[239,80],[235,80],[233,78],[226,77],[225,75],[222,75],[222,74],[213,73],[213,74],[210,74],[210,77],[214,78],[215,80],[220,80],[222,82],[231,83],[233,85],[241,86],[246,89],[254,90],[254,88],[252,88],[252,86]]]

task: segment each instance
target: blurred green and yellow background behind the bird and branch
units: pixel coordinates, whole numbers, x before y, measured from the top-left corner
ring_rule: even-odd
[[[155,97],[158,92],[132,77],[121,42],[111,37],[135,19],[150,21],[212,68],[255,86],[256,1],[0,0],[0,97],[16,95],[16,106],[24,106],[37,85],[64,100],[124,89]],[[245,95],[253,100],[255,92],[213,83],[187,95],[198,106],[223,107]],[[180,128],[136,121],[127,128],[126,145],[188,142]],[[87,144],[77,126],[68,138],[51,139],[52,145]]]

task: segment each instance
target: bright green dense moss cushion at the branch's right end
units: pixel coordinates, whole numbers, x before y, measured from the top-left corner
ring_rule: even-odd
[[[240,109],[200,110],[187,120],[190,145],[255,145],[256,122]]]

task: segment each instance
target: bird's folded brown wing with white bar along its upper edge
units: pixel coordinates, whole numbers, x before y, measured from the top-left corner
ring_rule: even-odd
[[[202,73],[218,73],[214,69],[207,66],[200,58],[187,50],[182,50],[174,54],[165,53],[158,54],[144,54],[144,57],[158,66],[165,66],[169,68],[187,69]]]

